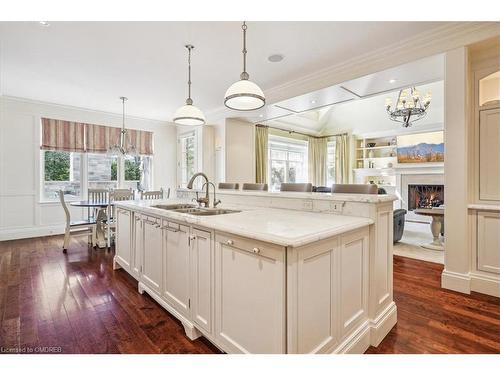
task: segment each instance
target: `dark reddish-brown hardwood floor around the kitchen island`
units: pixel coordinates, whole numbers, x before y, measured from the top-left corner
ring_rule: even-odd
[[[0,352],[219,353],[113,271],[112,252],[61,243],[0,242]],[[500,353],[500,299],[441,289],[442,268],[394,257],[398,324],[367,353]]]

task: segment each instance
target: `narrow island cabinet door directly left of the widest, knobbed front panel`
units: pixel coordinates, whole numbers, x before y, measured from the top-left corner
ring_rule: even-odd
[[[206,332],[212,332],[213,251],[210,232],[193,230],[191,244],[191,316]]]

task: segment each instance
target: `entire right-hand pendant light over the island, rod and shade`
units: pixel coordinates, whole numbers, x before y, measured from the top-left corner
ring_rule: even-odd
[[[224,104],[230,109],[237,111],[253,111],[262,108],[266,104],[264,93],[255,83],[250,81],[247,73],[247,25],[243,22],[243,72],[240,80],[233,83],[226,91]]]

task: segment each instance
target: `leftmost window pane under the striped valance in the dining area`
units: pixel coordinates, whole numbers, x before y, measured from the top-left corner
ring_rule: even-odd
[[[59,190],[69,198],[81,195],[81,154],[65,151],[42,151],[42,199],[55,200]]]

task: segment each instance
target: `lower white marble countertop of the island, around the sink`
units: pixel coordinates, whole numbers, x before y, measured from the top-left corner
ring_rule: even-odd
[[[175,203],[186,203],[186,200],[123,201],[116,202],[115,206],[288,247],[303,246],[373,224],[372,219],[365,217],[243,205],[222,204],[217,208],[241,212],[214,216],[195,216],[153,207]]]

